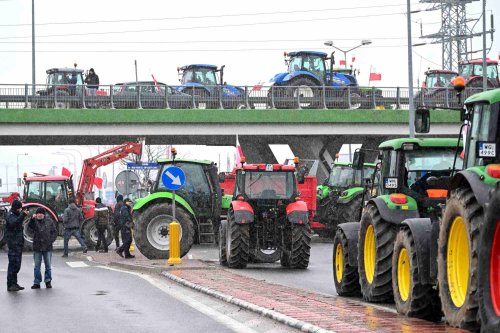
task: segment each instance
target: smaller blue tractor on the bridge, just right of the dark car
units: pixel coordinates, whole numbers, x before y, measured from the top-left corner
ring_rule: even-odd
[[[245,107],[245,91],[236,86],[226,84],[224,67],[215,65],[193,64],[177,68],[181,86],[180,92],[195,97],[198,108],[243,108]]]

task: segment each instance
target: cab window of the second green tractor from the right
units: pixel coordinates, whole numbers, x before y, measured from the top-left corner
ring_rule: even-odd
[[[405,171],[408,172],[407,186],[411,187],[428,173],[435,176],[449,176],[455,159],[455,148],[434,148],[405,152]],[[457,159],[455,169],[462,169],[462,160]]]

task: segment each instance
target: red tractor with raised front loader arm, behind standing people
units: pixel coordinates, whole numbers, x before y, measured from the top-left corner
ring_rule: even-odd
[[[113,147],[97,156],[83,161],[80,182],[76,191],[73,188],[73,175],[48,176],[34,173],[34,176],[23,178],[24,196],[23,207],[29,209],[28,216],[31,216],[38,207],[47,210],[48,215],[56,221],[58,234],[63,235],[62,217],[64,210],[68,207],[70,198],[74,198],[77,206],[82,208],[84,222],[80,226],[80,231],[85,238],[87,246],[94,247],[97,243],[97,229],[94,223],[95,201],[89,199],[96,180],[96,170],[101,166],[111,164],[129,154],[140,156],[142,144],[127,142],[120,146]],[[29,249],[33,244],[31,229],[27,227],[29,218],[24,221],[25,246]],[[108,243],[112,241],[112,232],[108,230],[106,239]]]

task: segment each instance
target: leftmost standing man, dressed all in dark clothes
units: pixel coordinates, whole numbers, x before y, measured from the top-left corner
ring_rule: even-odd
[[[23,209],[23,204],[19,200],[12,202],[9,215],[7,216],[7,225],[5,230],[5,239],[9,246],[9,267],[7,269],[7,291],[23,290],[17,284],[17,273],[21,269],[21,260],[23,258],[23,221],[28,210]]]

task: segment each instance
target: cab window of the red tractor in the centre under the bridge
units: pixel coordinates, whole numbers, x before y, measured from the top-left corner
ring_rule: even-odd
[[[291,199],[295,194],[295,175],[285,171],[239,171],[235,195],[248,199]]]

